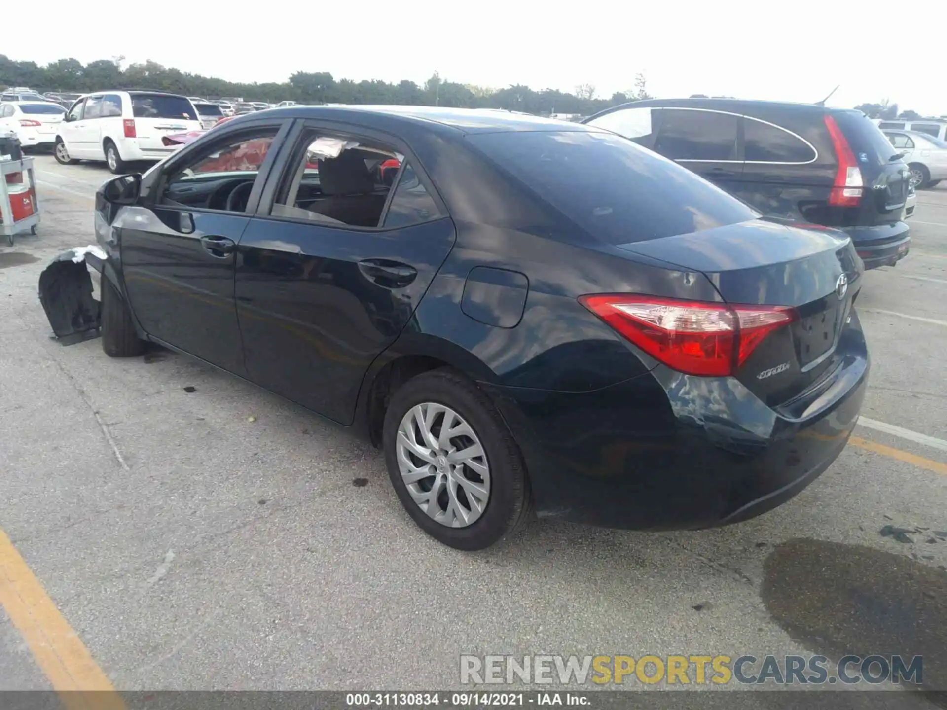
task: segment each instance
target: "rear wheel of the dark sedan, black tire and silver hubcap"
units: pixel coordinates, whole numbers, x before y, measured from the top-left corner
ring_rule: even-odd
[[[409,380],[384,414],[388,475],[415,523],[459,550],[481,550],[527,518],[519,447],[474,382],[442,368]]]

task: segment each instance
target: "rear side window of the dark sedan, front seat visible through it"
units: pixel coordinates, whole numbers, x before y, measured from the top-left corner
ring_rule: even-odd
[[[291,220],[339,226],[381,225],[399,171],[391,209],[384,226],[427,222],[438,217],[437,206],[420,184],[404,156],[374,140],[312,132],[303,136],[296,158],[277,194],[272,215]],[[410,171],[405,182],[404,173]],[[430,202],[425,203],[424,199]]]

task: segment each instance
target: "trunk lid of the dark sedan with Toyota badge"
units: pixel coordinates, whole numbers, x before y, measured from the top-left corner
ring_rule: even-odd
[[[735,377],[771,405],[797,397],[831,373],[861,287],[847,235],[772,219],[621,245],[702,272],[731,305],[789,307]]]

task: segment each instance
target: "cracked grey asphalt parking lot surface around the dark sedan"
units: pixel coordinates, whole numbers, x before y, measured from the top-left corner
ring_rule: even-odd
[[[0,542],[114,687],[444,689],[461,654],[877,652],[923,655],[947,689],[947,186],[919,193],[908,257],[866,276],[870,426],[812,486],[721,529],[536,521],[470,554],[426,537],[344,430],[174,353],[52,340],[39,275],[94,243],[110,175],[36,164],[39,233],[0,247]],[[57,687],[7,612],[0,689]]]

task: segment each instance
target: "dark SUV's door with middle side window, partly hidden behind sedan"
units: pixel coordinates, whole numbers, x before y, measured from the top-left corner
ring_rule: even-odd
[[[654,150],[732,191],[743,170],[740,115],[709,109],[665,108]]]

